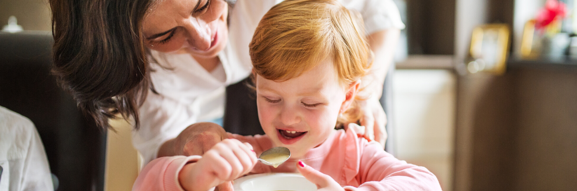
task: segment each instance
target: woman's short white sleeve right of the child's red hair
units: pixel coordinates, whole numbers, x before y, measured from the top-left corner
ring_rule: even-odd
[[[392,0],[341,0],[341,3],[361,13],[368,34],[390,28],[404,29],[399,9]]]

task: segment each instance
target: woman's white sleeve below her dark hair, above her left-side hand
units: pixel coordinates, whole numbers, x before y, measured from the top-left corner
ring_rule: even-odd
[[[156,159],[160,146],[196,123],[196,107],[179,103],[151,91],[138,110],[140,129],[133,130],[132,143],[144,157],[144,164]]]

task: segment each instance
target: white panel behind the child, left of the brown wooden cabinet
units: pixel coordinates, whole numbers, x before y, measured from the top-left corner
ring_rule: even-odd
[[[396,70],[396,156],[432,171],[452,190],[456,77],[448,70]]]

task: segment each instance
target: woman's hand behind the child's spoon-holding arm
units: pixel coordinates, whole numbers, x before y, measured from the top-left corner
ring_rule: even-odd
[[[176,138],[166,141],[158,151],[158,157],[175,155],[203,155],[228,135],[216,123],[194,123],[182,130]]]

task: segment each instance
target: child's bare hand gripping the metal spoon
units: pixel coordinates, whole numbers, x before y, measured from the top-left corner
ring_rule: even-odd
[[[198,162],[186,164],[178,180],[185,190],[208,190],[249,173],[256,163],[252,145],[224,139],[205,152]]]

